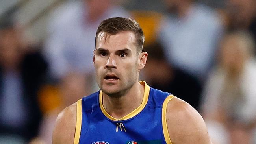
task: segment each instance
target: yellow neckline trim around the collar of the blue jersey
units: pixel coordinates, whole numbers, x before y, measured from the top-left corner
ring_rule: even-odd
[[[100,99],[100,109],[101,109],[102,113],[107,118],[109,118],[110,120],[113,120],[113,121],[128,120],[128,119],[136,116],[137,114],[139,114],[144,109],[144,107],[146,106],[146,104],[148,102],[149,90],[150,90],[150,87],[147,85],[147,83],[145,81],[140,81],[139,83],[145,86],[143,100],[142,100],[141,105],[139,107],[137,107],[134,111],[132,111],[131,113],[127,114],[126,116],[124,116],[120,119],[114,118],[113,116],[108,114],[108,112],[105,110],[105,108],[103,106],[103,100],[102,100],[103,99],[102,91],[100,90],[99,99]]]

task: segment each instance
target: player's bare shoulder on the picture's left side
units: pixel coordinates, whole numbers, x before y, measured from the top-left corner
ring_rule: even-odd
[[[77,102],[59,113],[52,135],[53,144],[73,144],[76,130]]]

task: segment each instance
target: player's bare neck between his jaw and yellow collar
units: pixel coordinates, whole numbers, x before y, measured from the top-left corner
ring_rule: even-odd
[[[102,92],[103,106],[108,114],[116,119],[120,119],[141,105],[144,89],[143,85],[135,83],[123,96],[111,97]]]

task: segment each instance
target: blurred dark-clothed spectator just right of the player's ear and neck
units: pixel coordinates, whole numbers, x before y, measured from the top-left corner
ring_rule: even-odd
[[[148,52],[148,59],[143,75],[149,85],[170,92],[197,109],[201,93],[199,81],[191,74],[169,64],[160,44],[149,45],[144,50]]]

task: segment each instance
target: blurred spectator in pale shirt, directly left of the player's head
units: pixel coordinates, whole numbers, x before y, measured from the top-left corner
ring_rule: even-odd
[[[46,57],[54,78],[70,71],[91,74],[95,33],[100,22],[110,17],[130,17],[120,0],[67,2],[56,10],[49,24]]]

